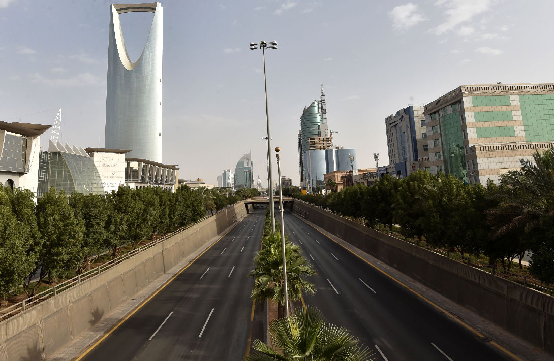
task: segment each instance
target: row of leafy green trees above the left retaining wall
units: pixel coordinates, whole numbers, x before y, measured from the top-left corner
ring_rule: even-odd
[[[186,185],[175,193],[126,186],[69,197],[51,188],[37,203],[33,197],[28,189],[0,186],[0,300],[21,285],[33,296],[46,277],[81,274],[102,252],[114,259],[126,245],[136,247],[243,199]]]

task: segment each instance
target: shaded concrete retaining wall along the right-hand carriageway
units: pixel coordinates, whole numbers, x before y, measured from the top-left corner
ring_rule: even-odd
[[[554,297],[369,229],[310,204],[293,212],[554,354]]]

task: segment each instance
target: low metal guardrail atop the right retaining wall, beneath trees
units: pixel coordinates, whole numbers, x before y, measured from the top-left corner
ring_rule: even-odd
[[[321,207],[320,205],[316,205],[316,204],[312,204],[310,202],[306,202],[305,200],[302,200],[302,199],[298,199],[298,198],[294,198],[294,200],[298,200],[302,203],[306,203],[306,204],[309,204],[311,205],[312,207],[316,207],[316,208],[320,208],[322,210],[325,210],[326,212],[329,212],[329,213],[332,213],[336,216],[339,216],[343,219],[346,219],[346,220],[350,220],[352,221],[351,219],[349,218],[346,218],[345,216],[343,216],[342,214],[340,213],[337,213],[329,208],[323,208]],[[365,224],[361,224],[361,223],[358,223],[356,222],[357,224],[360,224],[361,226],[364,226],[367,228],[367,225]],[[376,231],[378,232],[381,232],[380,230],[377,230]],[[404,242],[407,242],[409,244],[413,244],[413,245],[416,245],[410,241],[407,241],[406,239],[402,239],[402,238],[399,238],[397,235],[399,235],[398,233],[394,232],[394,231],[391,231],[390,233],[388,233],[387,235],[391,236],[391,237],[394,237],[398,240],[401,240],[401,241],[404,241]],[[416,245],[417,246],[417,245]],[[418,247],[421,247],[421,246],[418,246]],[[425,248],[425,247],[422,247],[422,248]],[[438,255],[441,255],[441,256],[444,256],[444,257],[447,257],[447,252],[446,251],[443,251],[441,249],[438,249],[438,248],[426,248],[427,250],[435,253],[435,254],[438,254]],[[449,259],[451,259],[450,257],[448,257]],[[455,261],[455,260],[454,260]],[[546,295],[548,296],[553,296],[554,294],[554,290],[552,290],[551,288],[547,288],[547,287],[544,287],[544,286],[541,286],[540,281],[536,280],[536,279],[530,279],[529,277],[527,276],[523,276],[523,275],[519,275],[519,274],[516,274],[512,271],[510,271],[509,273],[506,273],[504,272],[504,270],[502,269],[497,269],[498,271],[497,272],[494,272],[494,269],[496,269],[496,267],[493,268],[493,270],[491,270],[491,272],[489,272],[488,270],[486,270],[486,265],[483,265],[483,264],[480,264],[478,262],[471,262],[470,263],[473,263],[473,266],[470,265],[470,264],[467,264],[466,262],[464,262],[464,264],[468,265],[469,267],[474,267],[475,269],[478,269],[480,271],[483,271],[483,272],[487,272],[487,273],[490,273],[494,276],[497,276],[497,277],[501,277],[501,278],[504,278],[506,280],[509,280],[509,281],[512,281],[512,282],[515,282],[515,283],[518,283],[520,285],[523,285],[525,287],[529,287],[531,288],[532,290],[535,290],[537,292],[541,292],[541,293],[545,293]]]

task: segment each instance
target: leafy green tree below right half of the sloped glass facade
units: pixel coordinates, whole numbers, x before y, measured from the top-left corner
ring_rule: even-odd
[[[98,194],[73,192],[69,197],[75,219],[84,221],[85,225],[83,244],[79,250],[81,261],[75,267],[77,274],[84,272],[105,249],[106,226],[110,215],[106,203],[106,197]]]

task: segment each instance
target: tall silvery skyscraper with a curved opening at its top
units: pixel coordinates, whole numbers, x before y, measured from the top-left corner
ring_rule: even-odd
[[[154,13],[140,58],[131,63],[119,14]],[[159,2],[111,4],[107,59],[105,147],[131,149],[129,158],[162,162],[163,7]]]

